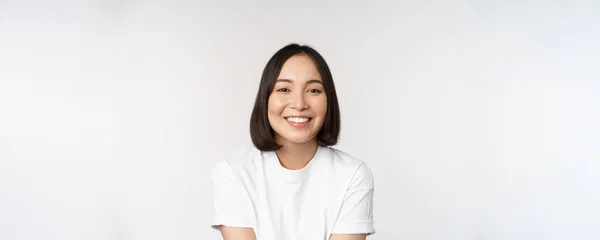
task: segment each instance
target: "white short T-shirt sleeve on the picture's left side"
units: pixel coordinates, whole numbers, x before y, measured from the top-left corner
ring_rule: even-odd
[[[213,169],[214,217],[211,227],[255,228],[252,202],[239,177],[227,161],[219,161]]]

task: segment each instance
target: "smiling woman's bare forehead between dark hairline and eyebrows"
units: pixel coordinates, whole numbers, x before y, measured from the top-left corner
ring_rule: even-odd
[[[306,54],[297,54],[285,61],[277,78],[290,80],[320,80],[321,74],[312,58]]]

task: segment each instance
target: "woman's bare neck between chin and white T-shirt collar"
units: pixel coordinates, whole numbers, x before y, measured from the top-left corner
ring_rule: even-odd
[[[299,170],[310,162],[317,153],[317,141],[306,143],[279,143],[281,148],[275,150],[281,166],[290,170]]]

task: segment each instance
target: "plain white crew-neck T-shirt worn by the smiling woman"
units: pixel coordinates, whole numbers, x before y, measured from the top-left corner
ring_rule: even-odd
[[[375,233],[374,182],[359,159],[319,146],[301,170],[281,166],[273,151],[251,147],[213,170],[212,227],[253,228],[257,240],[328,240]]]

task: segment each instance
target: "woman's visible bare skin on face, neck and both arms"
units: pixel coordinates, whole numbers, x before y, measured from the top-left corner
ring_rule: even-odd
[[[284,64],[269,97],[268,118],[275,141],[282,147],[275,151],[281,165],[304,168],[317,152],[316,136],[327,113],[327,96],[315,63],[304,54],[290,57]],[[286,117],[305,116],[305,127],[290,125]],[[221,227],[224,240],[256,240],[251,228]],[[365,240],[366,234],[332,234],[329,240]]]

